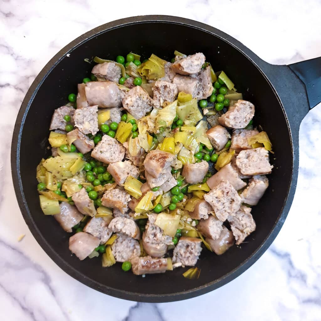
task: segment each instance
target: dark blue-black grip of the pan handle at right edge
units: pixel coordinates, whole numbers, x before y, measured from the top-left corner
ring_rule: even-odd
[[[321,57],[297,62],[289,68],[304,83],[310,109],[321,102]]]

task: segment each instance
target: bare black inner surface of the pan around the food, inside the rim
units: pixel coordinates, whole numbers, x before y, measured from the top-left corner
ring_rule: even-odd
[[[47,138],[53,111],[67,102],[69,93],[77,92],[77,83],[90,76],[93,65],[84,62],[84,58],[99,56],[114,60],[117,55],[125,56],[132,51],[140,54],[142,59],[154,53],[170,60],[175,49],[186,54],[203,52],[215,71],[224,70],[237,90],[243,93],[243,98],[255,105],[255,125],[261,125],[273,143],[275,154],[271,155],[270,160],[274,169],[268,177],[270,186],[252,210],[256,231],[241,247],[234,246],[224,255],[217,256],[203,250],[197,263],[201,268],[198,280],[190,281],[182,277],[186,269],[142,278],[124,273],[120,264],[106,269],[101,267],[100,259],[79,261],[71,256],[68,249],[70,235],[61,229],[53,217],[41,212],[37,196],[36,166],[41,158],[50,154]],[[19,165],[30,216],[50,247],[48,254],[56,262],[55,258],[60,257],[60,266],[67,273],[106,293],[116,289],[143,296],[164,295],[192,291],[217,282],[242,265],[262,245],[278,220],[287,197],[292,168],[291,138],[282,108],[269,82],[238,49],[204,30],[174,23],[145,22],[118,27],[88,39],[48,73],[39,86],[23,124]],[[115,295],[115,292],[112,294]]]

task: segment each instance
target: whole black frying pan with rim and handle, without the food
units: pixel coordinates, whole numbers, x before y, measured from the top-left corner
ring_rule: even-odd
[[[203,52],[214,70],[224,70],[245,100],[256,106],[254,122],[268,133],[274,155],[270,186],[253,207],[256,231],[240,247],[217,256],[203,250],[197,280],[175,269],[145,278],[124,273],[119,264],[102,268],[100,259],[78,260],[68,249],[70,235],[45,216],[37,195],[36,166],[48,157],[48,128],[55,108],[66,103],[93,65],[84,58],[115,59],[129,51],[143,59],[152,53],[170,60],[174,50]],[[211,26],[172,16],[138,16],[109,22],[59,51],[32,83],[15,123],[11,167],[22,215],[51,259],[78,281],[108,295],[143,302],[192,298],[217,289],[249,268],[280,231],[293,200],[299,167],[299,125],[321,101],[321,58],[293,65],[271,65],[239,41]]]

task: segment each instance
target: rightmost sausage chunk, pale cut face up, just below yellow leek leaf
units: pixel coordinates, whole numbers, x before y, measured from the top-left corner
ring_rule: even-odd
[[[243,175],[270,174],[269,152],[264,147],[246,149],[236,156],[236,166]]]

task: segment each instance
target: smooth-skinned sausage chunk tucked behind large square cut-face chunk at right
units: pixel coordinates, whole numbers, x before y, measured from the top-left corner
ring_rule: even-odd
[[[246,186],[246,183],[239,178],[238,172],[232,167],[231,163],[222,167],[217,173],[210,177],[206,183],[213,189],[220,184],[222,180],[229,181],[237,191]]]

